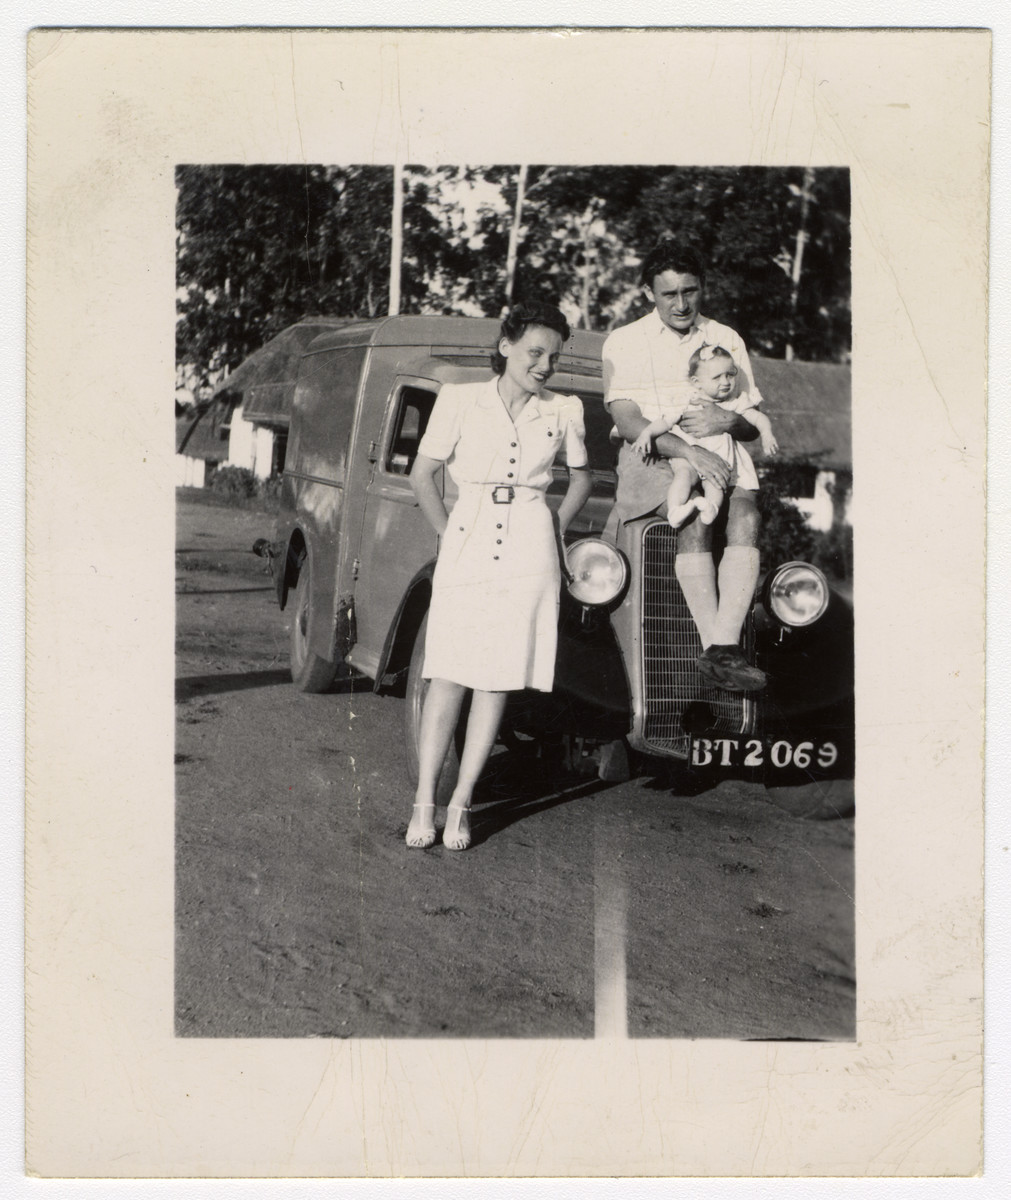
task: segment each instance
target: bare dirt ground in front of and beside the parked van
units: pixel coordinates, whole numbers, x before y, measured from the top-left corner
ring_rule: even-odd
[[[408,851],[402,702],[295,692],[271,530],[179,493],[180,1036],[854,1036],[853,820],[503,750],[472,850]]]

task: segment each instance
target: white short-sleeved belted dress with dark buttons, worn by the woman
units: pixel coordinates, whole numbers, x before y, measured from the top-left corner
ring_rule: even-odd
[[[497,377],[444,384],[418,449],[445,462],[459,488],[432,581],[425,678],[550,691],[561,570],[545,493],[556,458],[586,466],[581,401],[542,390],[514,424]]]

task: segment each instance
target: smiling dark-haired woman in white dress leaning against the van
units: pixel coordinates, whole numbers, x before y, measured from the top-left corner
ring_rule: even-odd
[[[436,785],[466,692],[473,698],[447,808],[442,841],[448,850],[471,845],[471,796],[508,692],[550,691],[554,683],[561,538],[592,486],[582,404],[544,390],[568,338],[557,308],[514,307],[492,355],[496,374],[442,388],[414,460],[411,485],[439,535],[439,554],[408,846],[435,844]],[[552,515],[545,493],[557,456],[569,468],[569,486]],[[459,488],[451,514],[436,484],[443,464]]]

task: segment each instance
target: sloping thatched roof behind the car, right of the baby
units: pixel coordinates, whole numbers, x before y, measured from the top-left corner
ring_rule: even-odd
[[[789,458],[806,458],[819,467],[853,466],[850,368],[837,362],[785,362],[752,355],[755,383]],[[755,457],[758,443],[748,445]]]

